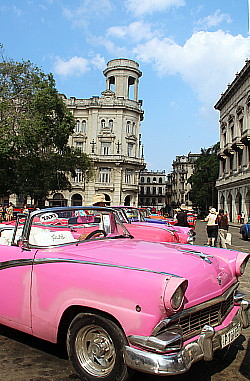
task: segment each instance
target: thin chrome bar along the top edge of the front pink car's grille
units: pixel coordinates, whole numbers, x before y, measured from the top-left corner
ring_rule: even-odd
[[[210,299],[207,302],[204,302],[204,303],[201,303],[201,304],[197,304],[197,306],[190,307],[190,308],[188,308],[186,310],[177,312],[176,314],[174,314],[172,316],[169,316],[167,319],[164,319],[164,320],[160,321],[155,326],[155,328],[153,329],[152,336],[157,335],[157,333],[160,330],[166,328],[169,324],[172,324],[173,322],[177,321],[179,318],[182,318],[184,316],[190,315],[190,314],[192,314],[194,312],[197,312],[197,311],[202,310],[204,308],[210,307],[210,306],[212,306],[214,304],[223,302],[224,300],[227,300],[229,295],[231,295],[231,293],[233,293],[238,288],[238,286],[239,286],[239,282],[233,284],[231,287],[229,287],[226,290],[226,292],[224,292],[224,294],[218,296],[217,298]]]

